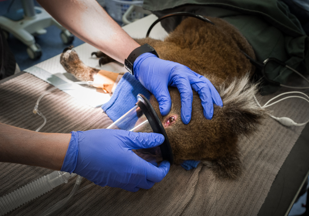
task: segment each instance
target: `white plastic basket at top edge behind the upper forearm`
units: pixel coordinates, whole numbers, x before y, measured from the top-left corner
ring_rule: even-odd
[[[143,1],[105,0],[107,13],[116,21],[122,22],[122,16],[131,5],[143,5]]]

